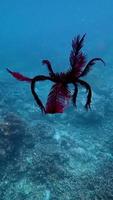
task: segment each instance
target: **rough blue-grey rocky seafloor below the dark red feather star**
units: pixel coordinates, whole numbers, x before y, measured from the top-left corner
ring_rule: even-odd
[[[113,68],[94,68],[92,109],[80,88],[77,110],[46,116],[29,84],[1,73],[0,200],[113,200]]]

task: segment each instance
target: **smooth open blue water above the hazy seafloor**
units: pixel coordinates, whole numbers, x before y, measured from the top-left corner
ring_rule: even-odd
[[[113,1],[0,0],[0,65],[40,71],[41,60],[68,66],[71,40],[87,33],[88,54],[113,46]]]

